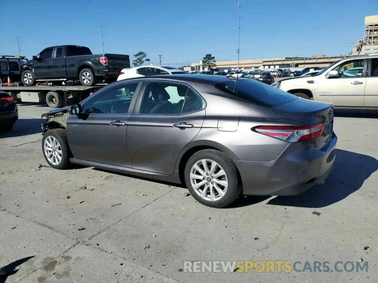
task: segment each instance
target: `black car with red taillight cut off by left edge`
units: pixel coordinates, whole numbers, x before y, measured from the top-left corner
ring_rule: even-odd
[[[13,97],[0,91],[0,131],[10,131],[19,118],[19,111]]]

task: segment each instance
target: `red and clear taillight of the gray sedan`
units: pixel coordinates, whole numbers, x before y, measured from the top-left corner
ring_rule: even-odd
[[[323,129],[323,124],[316,124],[309,126],[258,126],[253,131],[289,143],[295,143],[319,137]]]

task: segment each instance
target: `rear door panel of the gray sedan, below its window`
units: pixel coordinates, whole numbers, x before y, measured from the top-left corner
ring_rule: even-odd
[[[198,134],[205,111],[184,115],[134,114],[127,122],[126,145],[133,168],[172,175],[182,149]],[[176,128],[186,122],[192,128]]]

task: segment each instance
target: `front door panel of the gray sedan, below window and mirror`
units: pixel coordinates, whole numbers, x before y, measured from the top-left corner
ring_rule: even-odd
[[[91,113],[86,120],[82,120],[76,115],[70,115],[67,120],[67,138],[74,157],[131,167],[126,148],[126,125],[130,116]],[[125,125],[110,125],[116,120]]]

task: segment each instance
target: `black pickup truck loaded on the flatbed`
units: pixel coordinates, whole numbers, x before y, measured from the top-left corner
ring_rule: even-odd
[[[22,63],[21,68],[21,81],[25,86],[37,82],[61,85],[77,79],[83,86],[93,86],[100,81],[116,81],[119,71],[130,68],[130,58],[121,54],[92,54],[84,46],[61,45],[43,49],[32,60]]]

